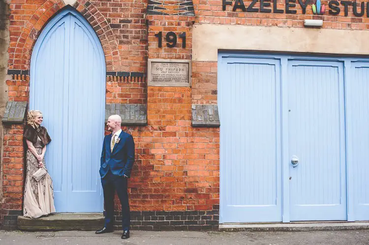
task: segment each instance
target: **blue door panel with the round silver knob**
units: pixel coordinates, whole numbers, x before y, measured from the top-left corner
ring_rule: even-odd
[[[288,66],[288,149],[300,160],[290,163],[290,219],[346,220],[343,65]]]

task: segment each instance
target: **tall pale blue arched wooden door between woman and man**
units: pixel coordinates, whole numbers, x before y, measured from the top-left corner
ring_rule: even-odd
[[[102,212],[105,69],[98,37],[74,9],[54,17],[33,48],[30,109],[43,112],[52,138],[45,161],[57,212]]]

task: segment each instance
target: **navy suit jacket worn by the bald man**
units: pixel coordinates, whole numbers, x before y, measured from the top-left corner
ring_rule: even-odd
[[[100,176],[104,178],[109,169],[114,175],[131,176],[134,163],[134,141],[133,137],[125,132],[119,135],[121,139],[115,144],[113,151],[110,148],[112,134],[104,137],[100,159]]]

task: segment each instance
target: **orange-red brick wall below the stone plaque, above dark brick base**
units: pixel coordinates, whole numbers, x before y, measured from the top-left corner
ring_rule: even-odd
[[[136,145],[132,211],[213,210],[219,204],[219,130],[191,127],[189,87],[148,88],[147,127],[123,127]]]

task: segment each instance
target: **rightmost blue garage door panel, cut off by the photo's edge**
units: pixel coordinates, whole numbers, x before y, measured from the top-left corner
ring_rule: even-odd
[[[355,220],[369,220],[369,62],[351,63],[346,84],[347,161]]]

